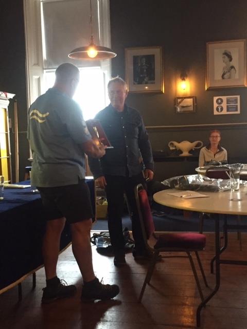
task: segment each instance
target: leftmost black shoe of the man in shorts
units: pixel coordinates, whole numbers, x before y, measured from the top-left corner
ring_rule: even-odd
[[[67,285],[64,280],[59,280],[56,287],[43,288],[43,296],[41,302],[47,304],[60,298],[72,297],[76,293],[76,286],[71,284]]]

